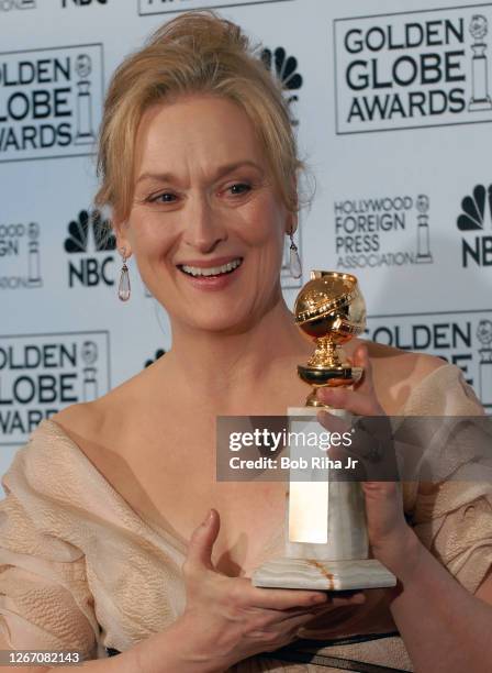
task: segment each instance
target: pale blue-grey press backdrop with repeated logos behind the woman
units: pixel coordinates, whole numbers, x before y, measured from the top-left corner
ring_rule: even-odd
[[[367,336],[456,363],[492,410],[492,2],[0,0],[0,473],[30,432],[170,347],[94,212],[121,59],[178,12],[241,24],[284,86],[316,194],[282,269],[354,273]]]

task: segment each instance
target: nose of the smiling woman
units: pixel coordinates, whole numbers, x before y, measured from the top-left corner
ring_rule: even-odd
[[[183,217],[183,241],[199,252],[211,252],[227,238],[220,213],[214,211],[206,198],[191,199]]]

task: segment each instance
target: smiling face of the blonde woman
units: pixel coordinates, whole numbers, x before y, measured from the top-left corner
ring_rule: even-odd
[[[119,247],[135,255],[172,320],[248,329],[279,300],[284,236],[293,224],[242,108],[193,96],[145,112]]]

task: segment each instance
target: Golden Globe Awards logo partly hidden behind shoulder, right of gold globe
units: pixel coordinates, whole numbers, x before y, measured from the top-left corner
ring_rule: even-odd
[[[368,339],[458,366],[492,412],[492,310],[368,316]]]

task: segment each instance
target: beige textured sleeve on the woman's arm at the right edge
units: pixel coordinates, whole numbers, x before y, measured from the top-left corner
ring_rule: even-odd
[[[474,593],[492,567],[492,437],[483,437],[483,428],[490,432],[490,420],[454,365],[424,379],[403,413],[457,417],[449,422],[447,438],[440,439],[441,478],[404,484],[404,500],[423,544]]]

